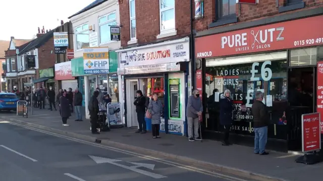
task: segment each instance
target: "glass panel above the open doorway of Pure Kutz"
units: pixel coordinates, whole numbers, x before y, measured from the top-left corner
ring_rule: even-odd
[[[290,51],[290,66],[316,65],[318,48],[302,48]]]

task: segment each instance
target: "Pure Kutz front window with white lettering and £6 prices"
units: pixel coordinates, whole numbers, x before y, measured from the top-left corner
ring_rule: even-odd
[[[206,63],[205,73],[205,93],[210,95],[206,99],[207,110],[217,110],[224,91],[229,89],[231,92],[231,99],[234,104],[234,124],[231,132],[254,134],[251,106],[257,91],[263,93],[264,99],[262,102],[270,112],[271,122],[275,124],[275,130],[273,133],[268,131],[268,137],[271,137],[270,135],[273,135],[273,137],[279,135],[276,125],[287,124],[285,117],[288,105],[286,59],[217,66],[211,66],[211,63]],[[214,89],[218,89],[219,92],[212,95]],[[223,131],[223,128],[219,125],[220,113],[211,112],[209,114],[214,115],[209,116],[206,129]]]

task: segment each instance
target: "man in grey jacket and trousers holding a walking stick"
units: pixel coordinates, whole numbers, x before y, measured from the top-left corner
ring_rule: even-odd
[[[202,115],[203,105],[200,98],[199,91],[195,89],[193,95],[188,98],[186,107],[186,117],[188,125],[188,140],[201,140],[201,136],[198,135],[198,117]],[[193,127],[194,127],[194,137],[193,137]]]

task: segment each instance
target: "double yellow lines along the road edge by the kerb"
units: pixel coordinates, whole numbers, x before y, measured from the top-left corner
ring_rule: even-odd
[[[184,165],[184,164],[181,164],[181,163],[177,163],[177,162],[173,162],[173,161],[169,161],[169,160],[165,160],[165,159],[161,159],[161,158],[156,158],[156,157],[147,156],[147,155],[143,155],[143,154],[139,154],[139,153],[134,153],[134,152],[131,152],[131,151],[127,151],[127,150],[123,150],[123,149],[119,149],[119,148],[114,148],[114,147],[110,147],[110,146],[100,145],[98,143],[93,143],[93,142],[90,142],[90,141],[84,141],[84,140],[81,140],[81,139],[72,138],[72,137],[57,134],[57,133],[52,133],[52,132],[49,132],[49,131],[45,131],[45,130],[37,129],[37,128],[34,128],[34,127],[22,125],[22,124],[19,124],[19,123],[14,123],[14,122],[9,121],[9,124],[20,126],[20,127],[23,127],[23,128],[34,130],[34,131],[38,131],[38,132],[45,133],[45,134],[48,134],[48,135],[56,136],[56,137],[59,137],[59,138],[64,138],[64,139],[67,139],[67,140],[71,140],[71,141],[75,141],[75,142],[95,146],[95,147],[98,147],[98,148],[112,150],[112,151],[116,151],[116,152],[119,152],[119,153],[124,153],[124,154],[127,154],[127,155],[137,156],[139,158],[143,158],[143,159],[147,159],[147,160],[153,160],[155,162],[164,163],[164,164],[171,165],[171,166],[176,166],[178,168],[186,169],[186,170],[189,170],[189,171],[198,172],[198,173],[202,173],[202,174],[205,174],[205,175],[214,176],[214,177],[218,177],[218,178],[223,178],[223,179],[230,180],[230,181],[249,181],[249,180],[246,180],[246,179],[243,179],[243,178],[238,178],[238,177],[235,177],[235,176],[230,176],[230,175],[227,175],[227,174],[219,173],[217,171],[209,171],[209,170],[205,170],[203,168],[199,168],[199,167],[195,167],[195,166],[187,166],[187,165]]]

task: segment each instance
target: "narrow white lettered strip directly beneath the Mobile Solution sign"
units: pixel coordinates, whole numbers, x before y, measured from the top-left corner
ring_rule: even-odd
[[[181,70],[180,64],[164,63],[164,64],[156,64],[156,65],[118,68],[118,74],[127,75],[127,74],[155,73],[155,72],[168,72],[168,71],[180,71],[180,70]]]

